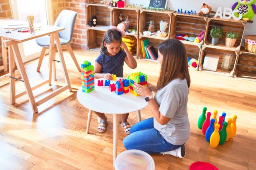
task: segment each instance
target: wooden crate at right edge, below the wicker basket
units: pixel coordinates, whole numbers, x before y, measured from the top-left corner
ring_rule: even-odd
[[[241,47],[233,77],[256,81],[256,53],[248,52]]]

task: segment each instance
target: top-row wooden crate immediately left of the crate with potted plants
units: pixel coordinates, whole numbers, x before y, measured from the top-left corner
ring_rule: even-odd
[[[202,31],[205,31],[206,24],[206,17],[174,13],[172,17],[170,37],[175,38],[177,34],[187,34],[189,37],[197,37]],[[202,45],[203,41],[195,43],[181,40],[181,42],[188,45]]]

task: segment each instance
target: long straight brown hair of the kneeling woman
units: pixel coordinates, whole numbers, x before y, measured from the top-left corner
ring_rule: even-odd
[[[168,39],[159,44],[159,52],[163,55],[157,89],[166,86],[176,78],[186,78],[190,86],[190,76],[187,63],[187,51],[183,43],[177,39]]]

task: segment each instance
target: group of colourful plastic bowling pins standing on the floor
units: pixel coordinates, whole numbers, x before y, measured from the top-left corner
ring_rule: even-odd
[[[233,115],[232,118],[226,119],[228,121],[225,122],[226,113],[223,112],[219,117],[219,121],[217,121],[218,111],[214,110],[212,115],[211,112],[206,113],[206,110],[207,108],[203,107],[202,114],[197,121],[197,127],[202,129],[205,140],[210,143],[210,146],[216,148],[218,145],[223,145],[230,138],[234,138],[236,135],[237,116]]]

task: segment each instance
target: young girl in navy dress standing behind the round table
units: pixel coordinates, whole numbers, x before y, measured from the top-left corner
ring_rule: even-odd
[[[137,67],[137,62],[128,47],[122,42],[122,37],[125,36],[123,30],[119,30],[115,26],[111,26],[102,40],[100,55],[97,57],[94,67],[95,78],[105,78],[113,80],[112,74],[117,77],[123,77],[123,64],[124,62],[132,69]],[[123,48],[124,50],[121,50]],[[95,112],[100,117],[100,124],[97,128],[99,133],[103,133],[108,125],[107,117],[104,113]],[[124,128],[126,134],[130,134],[131,126],[127,122],[127,114],[122,115],[121,126]]]

